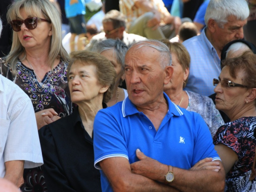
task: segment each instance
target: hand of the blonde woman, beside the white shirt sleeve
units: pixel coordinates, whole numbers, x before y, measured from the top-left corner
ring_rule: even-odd
[[[39,130],[42,126],[45,126],[53,121],[60,119],[54,109],[46,109],[35,113],[37,129]]]

